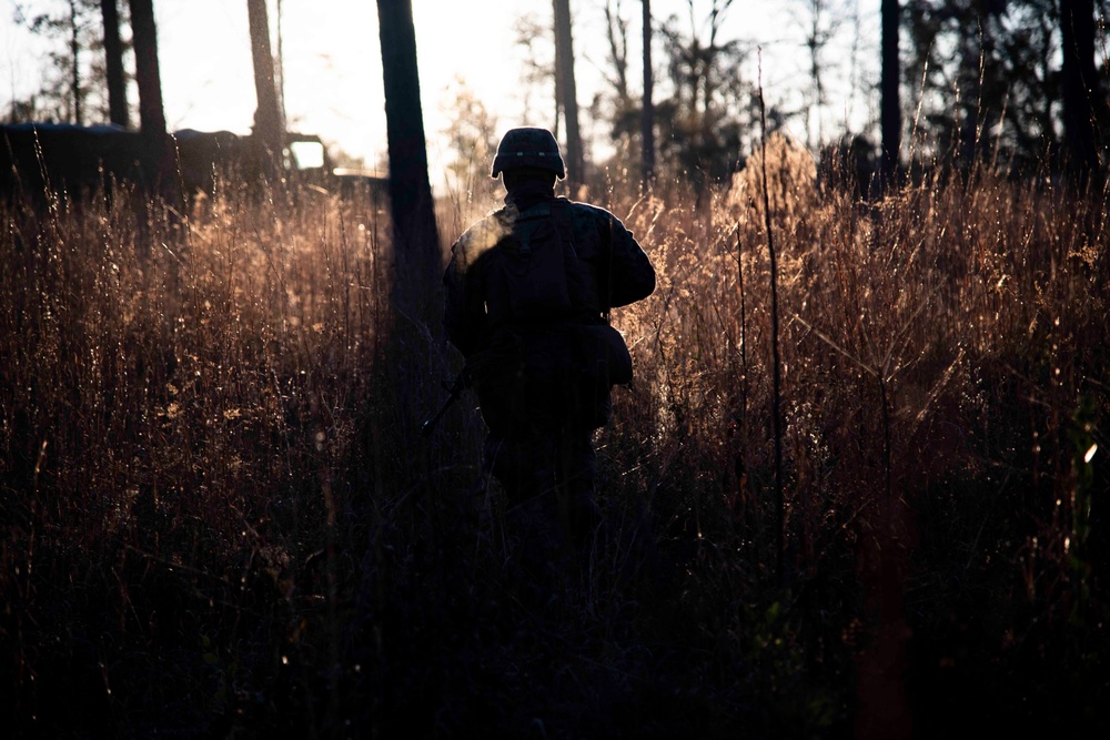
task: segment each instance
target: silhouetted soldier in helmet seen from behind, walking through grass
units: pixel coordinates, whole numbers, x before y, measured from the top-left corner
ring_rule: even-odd
[[[508,131],[498,175],[505,207],[452,246],[444,324],[488,427],[484,469],[509,509],[558,523],[581,548],[599,523],[593,433],[612,386],[632,381],[608,313],[650,295],[655,270],[612,213],[555,197],[565,169],[549,131]]]

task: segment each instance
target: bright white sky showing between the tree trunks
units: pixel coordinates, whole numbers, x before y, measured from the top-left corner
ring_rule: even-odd
[[[799,17],[811,0],[736,0],[728,10],[722,40],[758,42],[764,50],[764,85],[768,100],[788,94],[806,82],[806,52],[800,45]],[[279,0],[269,0],[271,26],[276,23]],[[839,8],[858,8],[861,18],[860,68],[877,69],[879,0],[833,0]],[[42,43],[14,23],[17,6],[27,16],[60,0],[0,0],[0,105],[13,95],[34,90],[44,64]],[[601,88],[598,68],[605,64],[604,0],[572,0],[574,13],[575,75],[579,105],[588,105]],[[632,19],[632,58],[639,58],[638,0],[623,0]],[[709,0],[694,0],[698,19]],[[830,4],[830,0],[826,0]],[[285,65],[285,109],[290,128],[316,133],[326,142],[362,156],[367,164],[381,161],[385,150],[385,113],[377,36],[377,4],[371,0],[280,0],[282,52]],[[250,131],[255,108],[245,0],[154,0],[159,33],[167,122],[171,130],[226,129]],[[653,0],[654,18],[689,16],[688,0]],[[518,16],[534,13],[549,23],[549,0],[413,0],[420,60],[425,134],[433,170],[451,152],[444,151],[441,132],[447,126],[448,101],[460,84],[473,90],[496,116],[500,130],[519,124],[552,125],[551,105],[534,93],[533,115],[523,113],[525,90],[521,82],[524,52],[516,44]],[[687,21],[688,28],[688,21]],[[842,42],[856,37],[850,24]],[[847,47],[846,47],[847,48]],[[276,51],[276,47],[275,47]],[[837,77],[847,79],[847,53],[829,54],[839,64]],[[656,53],[660,65],[662,54]],[[634,62],[634,63],[635,63]],[[639,64],[632,70],[632,87],[639,89]],[[755,75],[753,68],[747,70]],[[831,77],[831,73],[830,73]],[[777,94],[776,94],[777,93]],[[874,102],[845,92],[826,112],[826,125],[839,130],[846,118],[866,116]],[[797,131],[805,139],[805,131]],[[434,184],[434,183],[433,183]]]

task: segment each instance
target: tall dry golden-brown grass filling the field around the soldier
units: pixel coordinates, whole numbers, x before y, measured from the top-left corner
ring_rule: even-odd
[[[372,203],[6,207],[17,730],[837,736],[895,628],[924,733],[941,702],[1100,721],[1106,194],[977,170],[866,205],[781,141],[767,164],[788,590],[758,179],[603,193],[659,285],[615,316],[637,381],[598,435],[610,545],[543,588],[473,399],[420,434],[461,362],[434,327],[389,342]]]

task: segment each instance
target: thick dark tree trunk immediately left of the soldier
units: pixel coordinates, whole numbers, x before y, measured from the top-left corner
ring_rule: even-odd
[[[390,199],[398,311],[431,322],[442,257],[427,176],[424,113],[416,67],[416,31],[411,0],[377,0],[385,121],[390,150]]]

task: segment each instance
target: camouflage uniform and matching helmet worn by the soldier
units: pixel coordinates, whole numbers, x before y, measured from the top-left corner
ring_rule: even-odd
[[[516,129],[502,141],[493,175],[506,172],[505,207],[468,229],[452,246],[444,274],[447,337],[467,357],[483,416],[490,427],[485,469],[496,477],[509,507],[533,506],[562,521],[575,538],[598,521],[593,500],[596,464],[593,430],[608,419],[608,385],[594,397],[544,386],[546,365],[566,362],[561,343],[575,326],[602,325],[608,308],[650,295],[655,270],[636,240],[608,211],[556,199],[553,183],[512,182],[514,168],[564,175],[554,136],[543,129]],[[553,211],[568,226],[574,254],[566,266],[569,306],[561,315],[515,315],[483,255],[513,229],[522,213]],[[527,337],[528,377],[498,375],[505,337]],[[484,358],[484,362],[483,362]]]

